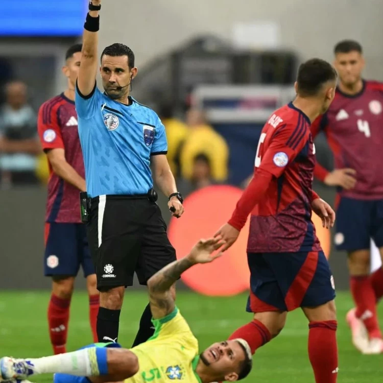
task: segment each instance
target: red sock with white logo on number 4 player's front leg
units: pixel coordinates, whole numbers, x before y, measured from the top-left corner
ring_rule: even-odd
[[[381,338],[376,316],[376,297],[370,276],[351,276],[351,293],[356,305],[356,317],[363,320],[369,337]]]

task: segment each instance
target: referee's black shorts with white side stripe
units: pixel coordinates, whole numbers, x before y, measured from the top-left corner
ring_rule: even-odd
[[[147,197],[100,196],[91,200],[87,223],[97,288],[140,284],[176,260],[161,210]]]

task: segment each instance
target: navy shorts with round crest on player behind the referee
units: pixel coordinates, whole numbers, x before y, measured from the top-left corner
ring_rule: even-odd
[[[85,277],[94,274],[85,225],[46,223],[44,275],[76,276],[80,266]]]

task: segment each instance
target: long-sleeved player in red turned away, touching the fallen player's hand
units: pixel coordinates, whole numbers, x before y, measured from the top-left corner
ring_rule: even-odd
[[[233,215],[216,235],[230,247],[251,213],[248,262],[254,319],[230,339],[245,339],[252,352],[282,330],[287,312],[302,307],[309,321],[308,354],[317,383],[338,375],[334,283],[311,221],[312,210],[329,228],[331,207],[312,189],[315,147],[310,124],[329,107],[337,73],[326,61],[299,67],[294,102],[275,111],[262,129],[254,176]]]

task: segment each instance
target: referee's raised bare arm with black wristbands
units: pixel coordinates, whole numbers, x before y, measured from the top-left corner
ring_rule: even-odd
[[[101,0],[92,0],[93,6],[100,6]],[[85,22],[83,34],[82,57],[77,78],[77,84],[82,95],[88,95],[94,88],[97,74],[98,56],[97,45],[99,42],[98,33],[99,11],[89,11]]]

